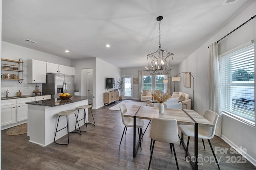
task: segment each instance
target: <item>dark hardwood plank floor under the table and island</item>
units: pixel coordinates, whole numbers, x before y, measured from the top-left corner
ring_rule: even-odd
[[[124,100],[122,100],[124,101]],[[120,101],[120,102],[122,102]],[[115,102],[118,104],[120,102]],[[132,128],[128,127],[126,136],[119,147],[124,125],[122,124],[120,111],[108,110],[114,106],[104,106],[92,110],[96,126],[88,125],[88,131],[78,135],[70,134],[69,145],[57,145],[52,143],[47,147],[40,147],[28,142],[27,134],[8,136],[1,131],[1,167],[2,170],[142,170],[148,169],[150,159],[149,129],[142,140],[142,150],[138,150],[136,158],[132,156]],[[89,114],[90,115],[90,114]],[[89,117],[92,120],[92,117]],[[145,120],[145,127],[148,120]],[[84,129],[84,126],[82,126]],[[144,128],[145,129],[145,128]],[[54,129],[55,130],[55,129]],[[180,133],[179,133],[180,134]],[[64,141],[62,137],[58,141]],[[186,141],[185,137],[185,141]],[[190,152],[193,152],[193,141],[190,139]],[[206,150],[199,140],[199,154],[203,162],[200,162],[201,170],[217,170],[210,146],[205,141]],[[251,170],[256,169],[249,161],[240,160],[240,154],[230,154],[230,146],[219,137],[211,140],[214,149],[226,149],[227,153],[216,152],[220,159],[222,170]],[[192,169],[189,162],[184,160],[185,150],[174,143],[180,170]],[[212,161],[210,162],[209,159]],[[232,158],[230,160],[229,158]],[[236,160],[236,163],[231,163]],[[240,162],[239,162],[240,161]],[[230,162],[230,163],[229,163]],[[156,142],[150,169],[164,170],[176,169],[174,155],[170,152],[169,144]]]

